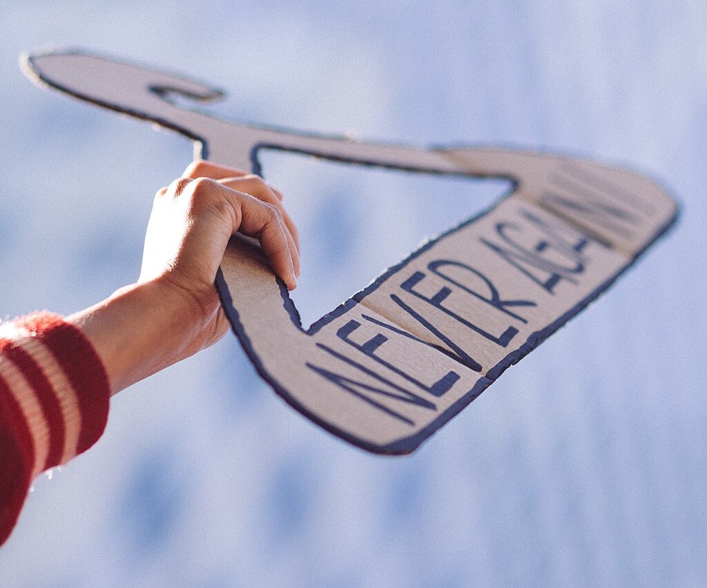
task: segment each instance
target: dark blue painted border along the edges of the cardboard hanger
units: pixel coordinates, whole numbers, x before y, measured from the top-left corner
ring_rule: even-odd
[[[45,55],[52,55],[52,54],[76,54],[76,55],[83,55],[86,57],[98,57],[99,59],[107,59],[109,61],[115,61],[116,63],[119,64],[127,64],[131,65],[134,67],[138,67],[140,69],[146,69],[149,71],[155,71],[156,73],[163,73],[168,76],[173,76],[174,78],[177,79],[189,79],[193,83],[197,83],[204,88],[208,88],[211,90],[211,95],[208,96],[198,96],[194,94],[189,94],[189,93],[184,93],[181,90],[178,90],[176,88],[157,88],[157,87],[151,87],[148,88],[149,90],[152,90],[153,92],[156,92],[160,94],[160,90],[170,90],[170,91],[175,91],[176,93],[180,93],[182,95],[186,95],[188,98],[192,98],[195,100],[201,100],[201,101],[208,101],[208,100],[213,100],[216,98],[221,98],[223,96],[223,92],[221,90],[218,90],[211,86],[210,84],[206,84],[200,81],[194,81],[193,78],[186,78],[185,76],[181,76],[175,73],[171,73],[168,71],[164,71],[161,69],[155,69],[151,66],[145,66],[143,64],[136,64],[131,61],[126,61],[126,60],[118,60],[114,59],[112,57],[105,57],[103,55],[97,54],[97,53],[92,53],[92,52],[87,52],[82,49],[66,49],[66,50],[50,50],[42,53],[36,53],[36,54],[23,54],[21,56],[21,67],[23,71],[25,71],[25,74],[30,78],[33,79],[34,81],[40,82],[45,84],[46,86],[49,86],[51,88],[55,88],[57,90],[62,91],[63,93],[69,94],[71,96],[74,96],[74,98],[78,98],[80,100],[83,100],[84,102],[90,102],[93,105],[97,105],[103,108],[107,108],[108,110],[113,110],[115,112],[119,112],[122,114],[128,114],[129,116],[135,117],[137,119],[141,120],[148,120],[150,122],[156,123],[160,125],[160,127],[164,127],[165,129],[171,129],[173,131],[176,131],[177,133],[182,134],[183,136],[186,136],[188,139],[191,139],[195,143],[197,143],[201,149],[201,158],[207,159],[209,155],[209,146],[208,146],[208,141],[204,139],[203,137],[199,136],[198,134],[195,134],[194,131],[191,129],[186,129],[185,127],[181,127],[180,125],[175,124],[174,122],[171,122],[167,119],[163,119],[160,117],[156,117],[153,114],[146,114],[144,112],[140,112],[138,110],[133,110],[129,108],[122,107],[120,105],[117,105],[112,102],[105,102],[101,100],[94,100],[93,98],[90,98],[88,95],[76,92],[75,90],[71,88],[67,88],[66,86],[62,86],[60,83],[57,83],[47,77],[45,77],[41,71],[39,71],[35,65],[33,64],[33,58],[34,57],[42,57]],[[163,100],[167,100],[165,95],[161,95],[161,98]],[[242,123],[238,123],[242,124]],[[243,124],[243,126],[250,126],[247,124]],[[273,130],[280,131],[285,134],[295,134],[298,136],[310,136],[312,138],[327,138],[327,139],[339,139],[339,140],[345,140],[341,137],[337,136],[325,136],[325,135],[320,135],[320,134],[308,134],[308,133],[302,133],[298,131],[291,131],[289,129],[283,129],[280,127],[265,127],[258,125],[256,128],[258,129],[267,129],[271,128]],[[382,143],[378,143],[382,144]],[[391,147],[395,147],[395,145],[390,145]],[[468,147],[472,148],[473,146],[459,146],[459,147]],[[351,310],[353,307],[355,307],[358,302],[363,300],[363,298],[366,297],[366,295],[370,294],[374,290],[376,290],[379,286],[382,285],[383,282],[387,281],[388,278],[393,276],[394,274],[397,273],[400,269],[403,269],[404,266],[407,266],[410,261],[418,257],[421,253],[425,252],[427,249],[430,247],[433,247],[433,245],[436,245],[437,242],[442,240],[444,237],[451,235],[452,233],[455,233],[457,230],[460,230],[464,228],[465,226],[472,224],[476,222],[477,220],[483,218],[491,212],[496,206],[501,204],[501,202],[508,198],[509,196],[512,196],[515,194],[515,189],[518,185],[518,180],[515,177],[507,177],[503,175],[474,175],[474,174],[469,174],[469,173],[448,173],[448,172],[440,172],[439,170],[424,170],[421,167],[403,167],[399,165],[390,165],[390,164],[385,164],[385,163],[380,163],[380,162],[375,162],[375,161],[366,161],[366,160],[355,160],[351,161],[346,158],[341,158],[337,155],[327,155],[326,153],[322,153],[319,151],[304,151],[304,150],[296,150],[296,149],[291,149],[291,148],[285,148],[276,144],[267,144],[267,143],[259,143],[251,148],[251,165],[252,165],[252,170],[253,172],[260,172],[260,164],[257,158],[257,153],[259,150],[264,149],[264,148],[271,148],[271,149],[279,149],[280,151],[286,151],[288,153],[300,153],[303,155],[314,155],[316,157],[320,158],[325,158],[327,160],[332,160],[332,161],[339,161],[343,163],[348,163],[351,165],[370,165],[370,166],[375,166],[375,167],[387,167],[387,168],[392,168],[396,170],[408,170],[408,171],[414,171],[414,172],[420,172],[420,173],[426,173],[428,175],[450,175],[450,176],[455,176],[458,175],[460,177],[467,177],[467,178],[472,178],[472,177],[477,177],[477,178],[483,178],[483,177],[493,177],[493,178],[498,178],[498,179],[506,179],[510,180],[510,182],[513,182],[513,187],[510,189],[510,191],[505,195],[502,196],[498,201],[496,201],[493,206],[486,208],[486,210],[481,211],[481,213],[472,216],[472,218],[469,218],[467,220],[462,221],[459,225],[456,225],[455,227],[451,228],[448,231],[445,231],[445,233],[442,233],[438,235],[437,237],[433,238],[432,240],[429,240],[428,242],[424,243],[421,247],[416,249],[414,252],[412,252],[408,257],[400,261],[398,264],[395,264],[394,266],[391,266],[389,269],[384,271],[380,276],[375,278],[373,282],[371,282],[366,288],[363,288],[363,290],[360,290],[359,292],[355,293],[352,295],[350,298],[348,298],[345,302],[342,302],[341,305],[339,305],[337,308],[332,310],[331,312],[328,312],[325,314],[322,318],[318,319],[315,323],[312,324],[310,329],[308,331],[304,331],[306,334],[312,335],[315,334],[315,332],[322,327],[325,326],[325,324],[331,322],[337,317],[340,317],[343,314],[346,314],[349,310]],[[448,149],[450,147],[441,147],[441,146],[434,146],[431,148],[428,148],[428,151],[443,151],[444,149]],[[497,147],[498,148],[498,147]],[[512,147],[509,147],[512,148]],[[525,151],[525,150],[524,150]],[[539,153],[542,155],[550,155],[549,153],[542,153],[541,151],[533,151],[532,153]],[[571,155],[566,155],[566,154],[559,154],[559,153],[554,153],[553,154],[556,157],[572,157]],[[580,158],[582,160],[585,160],[585,158]],[[585,160],[588,161],[588,160]],[[589,162],[588,163],[592,163]],[[602,164],[603,165],[603,164]],[[622,166],[624,167],[624,166]],[[646,175],[644,173],[641,173],[644,177]],[[653,178],[649,179],[653,181],[655,184],[660,184],[653,180]],[[663,192],[666,192],[667,194],[670,194],[664,187],[660,186],[660,188],[663,190]],[[672,194],[671,194],[672,196]],[[401,437],[400,439],[391,442],[387,445],[375,445],[374,443],[368,442],[367,440],[357,437],[356,435],[353,435],[349,433],[348,431],[341,429],[337,427],[336,425],[332,425],[332,423],[329,423],[326,421],[324,418],[320,417],[316,413],[312,413],[309,411],[307,408],[305,408],[300,402],[296,399],[295,396],[290,394],[290,392],[282,386],[271,374],[270,372],[264,367],[264,364],[262,363],[262,360],[259,358],[259,355],[255,352],[255,349],[252,346],[252,343],[250,342],[250,336],[245,331],[245,328],[243,327],[243,324],[240,322],[240,316],[238,314],[238,310],[235,309],[235,305],[233,304],[233,299],[230,297],[230,291],[228,290],[228,285],[226,284],[226,280],[223,277],[223,273],[221,272],[221,269],[218,269],[218,272],[216,274],[216,290],[218,291],[218,296],[221,299],[221,304],[224,307],[224,311],[226,312],[226,316],[228,317],[228,320],[231,324],[231,328],[234,332],[234,334],[237,336],[238,340],[240,341],[241,346],[243,347],[243,350],[245,351],[246,355],[250,359],[251,363],[254,365],[257,373],[262,377],[263,380],[265,380],[269,386],[274,389],[274,391],[281,396],[282,399],[284,399],[290,406],[296,409],[299,413],[301,413],[303,416],[307,417],[310,419],[310,421],[316,423],[317,425],[320,425],[322,428],[325,430],[329,431],[329,433],[332,433],[333,435],[340,437],[342,440],[346,440],[347,442],[351,443],[352,445],[356,445],[357,447],[361,447],[361,449],[366,449],[369,452],[377,453],[377,454],[386,454],[386,455],[399,455],[399,454],[409,454],[413,452],[415,449],[417,449],[425,440],[428,439],[428,437],[431,437],[433,433],[435,433],[437,430],[439,430],[445,423],[448,423],[454,416],[456,416],[460,411],[462,411],[463,408],[468,406],[481,392],[484,392],[486,388],[491,386],[493,382],[495,382],[498,377],[508,369],[511,365],[515,365],[515,363],[518,363],[522,358],[525,357],[528,353],[530,353],[534,348],[539,346],[540,343],[545,341],[551,334],[553,334],[555,331],[557,331],[560,327],[562,327],[564,324],[566,324],[569,320],[571,320],[573,317],[575,317],[577,314],[579,314],[582,310],[584,310],[588,305],[590,305],[591,302],[596,300],[605,290],[607,290],[612,284],[626,272],[633,264],[636,263],[636,261],[643,256],[645,251],[649,249],[655,242],[658,240],[660,237],[665,235],[670,228],[676,223],[677,218],[679,218],[679,204],[677,201],[675,201],[674,198],[672,198],[674,203],[675,203],[675,208],[674,208],[674,213],[672,217],[670,217],[667,222],[662,225],[662,227],[658,228],[656,231],[655,235],[646,242],[645,246],[636,252],[636,254],[633,255],[633,258],[629,260],[629,263],[626,264],[620,271],[618,271],[616,274],[608,278],[604,283],[602,283],[599,287],[597,287],[595,290],[592,291],[588,296],[583,298],[583,300],[580,300],[576,305],[574,305],[570,310],[562,314],[560,317],[554,320],[554,322],[551,322],[551,324],[547,325],[547,327],[544,327],[544,329],[540,329],[539,331],[535,331],[532,333],[528,339],[525,341],[525,343],[520,346],[520,348],[516,349],[515,351],[509,353],[504,357],[499,363],[497,363],[495,366],[493,366],[488,372],[487,375],[488,377],[481,377],[481,380],[477,382],[477,384],[472,387],[471,390],[469,390],[464,396],[462,396],[460,399],[457,399],[457,401],[452,404],[452,406],[448,407],[440,416],[438,416],[436,419],[434,419],[431,423],[426,425],[426,427],[422,428],[419,430],[417,433],[414,433],[414,435],[410,435],[409,437]],[[303,330],[301,327],[301,321],[300,321],[300,316],[299,312],[296,309],[296,306],[294,305],[294,302],[291,300],[291,298],[288,295],[287,288],[284,284],[283,281],[281,281],[280,278],[275,277],[276,283],[280,289],[280,293],[283,299],[283,305],[284,309],[286,312],[288,312],[291,321],[293,322],[293,325],[300,329]]]

